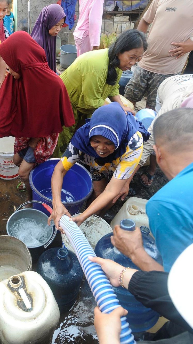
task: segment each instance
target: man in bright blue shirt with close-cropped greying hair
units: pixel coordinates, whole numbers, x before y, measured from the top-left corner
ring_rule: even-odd
[[[139,228],[127,232],[115,226],[112,244],[141,270],[170,271],[193,243],[193,109],[166,112],[155,121],[153,132],[157,163],[170,180],[146,205],[163,267],[145,252]]]

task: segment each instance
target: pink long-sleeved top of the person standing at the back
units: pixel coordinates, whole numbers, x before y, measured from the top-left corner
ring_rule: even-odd
[[[100,45],[104,0],[79,0],[79,19],[75,32],[82,39],[84,33],[89,35],[90,45]]]

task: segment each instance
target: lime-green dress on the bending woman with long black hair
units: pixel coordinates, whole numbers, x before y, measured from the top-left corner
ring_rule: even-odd
[[[122,71],[116,68],[117,82],[114,86],[108,85],[106,84],[108,65],[108,49],[95,50],[80,55],[61,74],[60,77],[70,97],[75,125],[69,128],[63,127],[53,157],[60,158],[64,154],[79,120],[90,118],[94,110],[104,104],[107,97],[119,95],[118,82]],[[82,121],[81,125],[83,124]]]

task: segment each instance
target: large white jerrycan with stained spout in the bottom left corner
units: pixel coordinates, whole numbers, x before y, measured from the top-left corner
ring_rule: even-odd
[[[49,344],[59,308],[44,279],[25,271],[0,282],[0,343]]]

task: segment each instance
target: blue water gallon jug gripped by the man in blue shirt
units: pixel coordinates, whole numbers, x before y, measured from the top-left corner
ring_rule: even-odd
[[[133,220],[122,220],[120,226],[125,230],[135,230],[135,222]],[[149,234],[149,228],[146,226],[141,226],[140,229],[145,251],[158,263],[162,264],[162,259],[156,247],[155,240]],[[106,234],[98,241],[94,250],[96,256],[105,259],[111,259],[124,267],[130,267],[139,270],[139,268],[132,262],[130,258],[123,255],[111,244],[112,235],[113,233]],[[157,312],[150,308],[146,308],[125,288],[120,286],[117,288],[113,287],[113,289],[122,307],[128,310],[127,320],[133,332],[146,331],[155,325],[159,318],[159,314]]]

